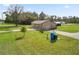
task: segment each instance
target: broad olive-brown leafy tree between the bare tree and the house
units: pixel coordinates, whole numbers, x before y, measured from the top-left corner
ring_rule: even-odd
[[[36,12],[23,12],[19,16],[21,24],[31,24],[32,21],[37,20],[38,14]]]

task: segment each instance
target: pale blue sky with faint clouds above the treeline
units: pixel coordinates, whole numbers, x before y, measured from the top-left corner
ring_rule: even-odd
[[[79,4],[21,4],[24,11],[43,11],[47,15],[57,16],[79,16]],[[0,4],[0,18],[3,11],[6,11],[9,4]]]

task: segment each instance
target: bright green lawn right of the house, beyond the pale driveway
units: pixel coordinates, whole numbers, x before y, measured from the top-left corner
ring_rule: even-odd
[[[79,32],[79,24],[61,25],[57,29],[65,32]]]

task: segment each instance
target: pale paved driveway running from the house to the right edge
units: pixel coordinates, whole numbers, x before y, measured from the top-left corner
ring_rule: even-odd
[[[53,32],[53,30],[51,30],[50,32]],[[60,35],[72,37],[72,38],[75,38],[75,39],[79,40],[79,32],[77,32],[77,33],[69,33],[69,32],[57,31],[57,30],[55,30],[55,32],[60,34]]]

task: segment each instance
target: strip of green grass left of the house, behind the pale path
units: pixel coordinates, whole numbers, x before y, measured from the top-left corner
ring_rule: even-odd
[[[22,26],[25,26],[26,28],[31,28],[31,25],[18,25],[16,27],[15,24],[0,24],[0,31],[17,30],[20,29]]]

